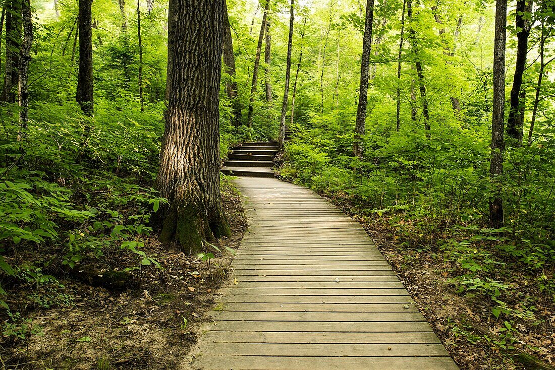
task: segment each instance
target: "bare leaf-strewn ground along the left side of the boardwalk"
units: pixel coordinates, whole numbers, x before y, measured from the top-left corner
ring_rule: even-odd
[[[225,181],[222,192],[233,234],[215,244],[225,251],[224,246],[239,247],[247,224],[238,190]],[[13,336],[1,339],[0,368],[177,368],[196,343],[199,325],[208,320],[204,313],[225,283],[233,255],[216,256],[208,265],[154,237],[145,241],[144,251],[163,268],[144,268],[138,273],[139,285],[130,290],[108,291],[62,278],[72,302],[65,307],[33,309],[26,298],[32,287],[12,296],[11,303],[26,312],[32,334],[17,341]]]

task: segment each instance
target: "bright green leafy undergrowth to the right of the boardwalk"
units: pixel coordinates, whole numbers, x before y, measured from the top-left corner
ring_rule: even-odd
[[[403,270],[441,269],[445,289],[472,302],[472,320],[498,333],[492,346],[511,349],[534,327],[549,324],[555,302],[552,132],[541,145],[508,148],[505,173],[496,179],[503,184],[506,226],[491,229],[490,149],[471,131],[437,129],[430,139],[413,128],[371,132],[359,160],[350,154],[352,135],[342,133],[341,121],[336,125],[331,131],[316,121],[297,127],[281,177],[385,227]]]

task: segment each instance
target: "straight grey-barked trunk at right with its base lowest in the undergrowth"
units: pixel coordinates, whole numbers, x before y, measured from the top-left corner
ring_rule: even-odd
[[[505,103],[505,38],[507,26],[507,0],[497,0],[495,13],[495,40],[493,43],[493,114],[491,128],[490,176],[494,194],[490,198],[490,222],[493,227],[504,225],[502,183]]]

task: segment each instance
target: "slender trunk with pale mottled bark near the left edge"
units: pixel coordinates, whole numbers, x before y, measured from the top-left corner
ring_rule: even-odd
[[[22,22],[23,40],[19,49],[19,125],[21,126],[18,140],[27,137],[27,123],[29,121],[29,62],[31,62],[31,47],[33,45],[33,17],[31,3],[23,0]]]

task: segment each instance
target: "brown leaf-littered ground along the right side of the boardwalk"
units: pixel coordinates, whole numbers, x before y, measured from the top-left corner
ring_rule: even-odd
[[[531,302],[535,306],[532,320],[506,316],[507,322],[513,324],[507,326],[503,314],[496,318],[488,313],[492,302],[487,297],[478,291],[466,295],[458,291],[460,269],[456,261],[443,255],[445,251],[433,246],[410,246],[414,244],[406,240],[410,236],[396,227],[391,216],[359,216],[349,199],[328,200],[362,224],[461,369],[532,368],[513,362],[506,350],[510,347],[541,359],[546,368],[555,365],[555,303],[549,290],[542,291],[532,283],[537,276],[529,276],[526,270],[517,265],[508,267],[509,264],[491,273],[499,281],[510,281],[512,290],[518,292],[507,302],[508,310],[521,312]],[[550,268],[546,275],[552,278],[555,268]],[[493,335],[486,337],[480,328]]]

